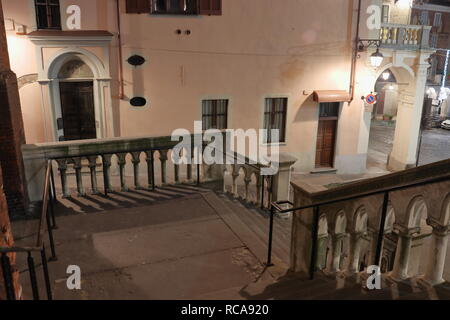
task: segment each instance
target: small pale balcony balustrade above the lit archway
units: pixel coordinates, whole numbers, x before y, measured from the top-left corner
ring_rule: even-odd
[[[431,27],[404,24],[381,24],[382,47],[418,49],[430,47]]]

